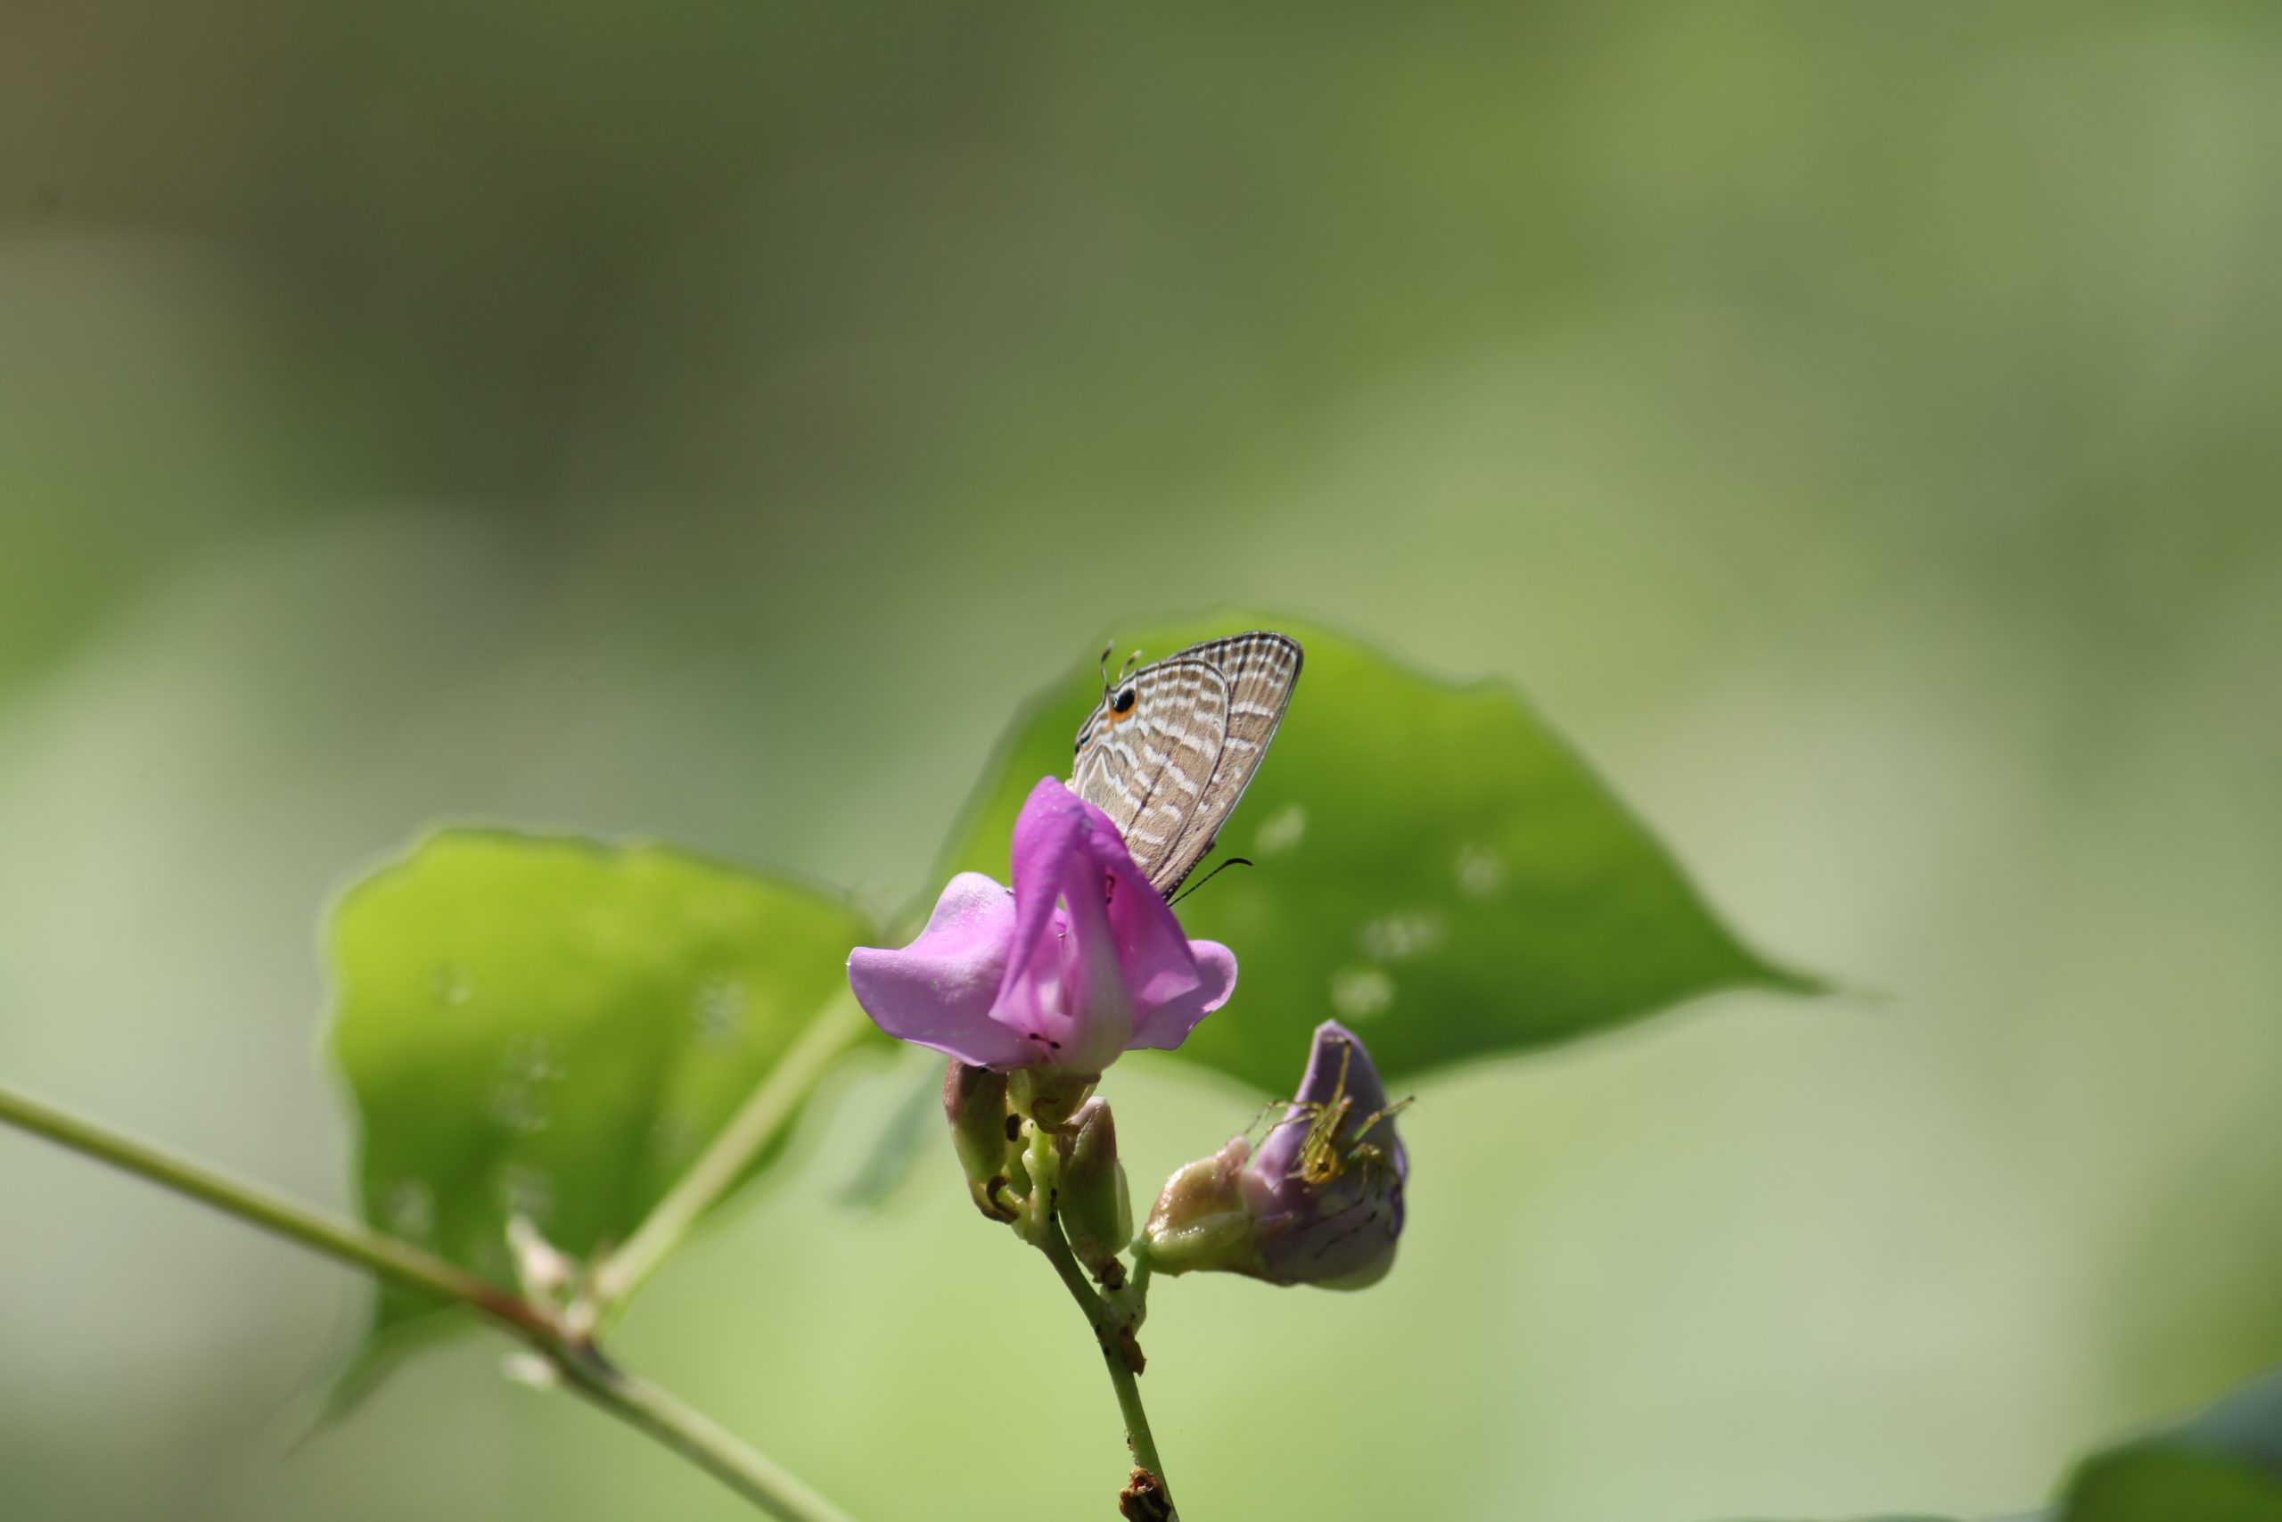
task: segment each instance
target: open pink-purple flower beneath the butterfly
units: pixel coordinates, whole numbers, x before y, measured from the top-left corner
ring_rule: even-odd
[[[1182,936],[1109,815],[1045,778],[1013,824],[1013,890],[961,872],[917,940],[849,956],[849,986],[883,1031],[963,1063],[1098,1075],[1187,1041],[1237,958]]]

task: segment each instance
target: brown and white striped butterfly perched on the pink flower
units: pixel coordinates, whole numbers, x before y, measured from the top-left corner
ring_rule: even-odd
[[[1276,739],[1298,682],[1296,639],[1253,630],[1189,646],[1109,680],[1077,728],[1070,792],[1125,835],[1150,885],[1173,897],[1212,849]]]

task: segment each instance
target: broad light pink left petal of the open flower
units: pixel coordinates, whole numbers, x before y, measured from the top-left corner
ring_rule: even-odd
[[[1013,899],[981,872],[942,890],[926,929],[901,952],[860,947],[849,988],[879,1029],[977,1068],[1034,1061],[1029,1043],[990,1018],[1015,936]]]

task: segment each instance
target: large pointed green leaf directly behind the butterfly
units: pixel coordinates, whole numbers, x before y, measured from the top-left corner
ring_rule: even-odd
[[[1257,865],[1180,908],[1191,936],[1228,942],[1239,961],[1235,999],[1182,1057],[1282,1093],[1326,1015],[1408,1079],[1716,988],[1816,988],[1743,947],[1504,682],[1438,682],[1353,639],[1255,614],[1123,632],[1118,650],[1159,657],[1248,628],[1278,628],[1308,655],[1276,744],[1221,831],[1225,853]],[[1015,721],[942,876],[1006,881],[1022,796],[1041,776],[1068,776],[1098,698],[1086,662]]]

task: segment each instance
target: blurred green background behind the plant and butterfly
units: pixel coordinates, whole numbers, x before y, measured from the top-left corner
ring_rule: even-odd
[[[0,1077],[338,1203],[358,865],[895,908],[1025,691],[1287,607],[1883,997],[1431,1084],[1383,1287],[1157,1296],[1193,1513],[2026,1506],[2282,1362],[2277,151],[2268,5],[7,0]],[[947,1148],[835,1203],[908,1084],[621,1351],[863,1517],[1095,1515]],[[1143,1191],[1257,1102],[1111,1093]],[[0,1223],[0,1515],[744,1515],[488,1335],[301,1440],[354,1276],[21,1136]]]

